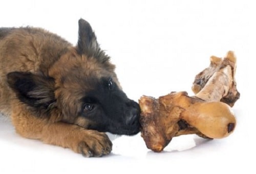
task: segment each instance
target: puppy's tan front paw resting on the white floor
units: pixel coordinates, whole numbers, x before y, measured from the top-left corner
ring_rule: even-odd
[[[86,130],[86,135],[78,143],[78,153],[84,157],[101,157],[110,154],[111,150],[112,142],[109,137],[95,130]]]

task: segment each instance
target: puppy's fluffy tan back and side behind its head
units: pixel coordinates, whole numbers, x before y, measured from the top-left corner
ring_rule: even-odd
[[[14,93],[7,84],[10,72],[48,74],[49,67],[71,44],[39,28],[0,28],[0,112],[10,114]]]

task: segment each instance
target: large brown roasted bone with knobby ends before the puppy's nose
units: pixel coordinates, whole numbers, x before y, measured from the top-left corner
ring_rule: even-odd
[[[140,98],[141,136],[147,148],[162,151],[180,135],[214,139],[233,132],[236,119],[228,105],[233,106],[240,96],[234,79],[236,57],[230,51],[224,59],[212,56],[210,60],[209,68],[195,78],[195,96],[172,92],[159,99]]]

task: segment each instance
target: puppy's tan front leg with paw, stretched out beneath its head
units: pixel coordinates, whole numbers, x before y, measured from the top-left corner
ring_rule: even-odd
[[[49,123],[46,119],[33,116],[26,107],[16,107],[13,110],[12,122],[16,132],[23,137],[68,147],[86,157],[100,157],[112,150],[112,143],[106,134],[74,124]]]

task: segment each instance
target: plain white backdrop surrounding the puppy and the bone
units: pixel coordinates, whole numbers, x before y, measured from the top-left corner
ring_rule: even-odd
[[[114,136],[111,155],[83,158],[70,149],[24,139],[0,121],[0,173],[256,173],[254,1],[2,1],[0,27],[34,26],[76,45],[80,17],[93,27],[116,64],[124,92],[138,101],[172,91],[191,92],[209,57],[229,50],[238,58],[241,98],[237,127],[220,140],[174,138],[162,153],[140,134]]]

